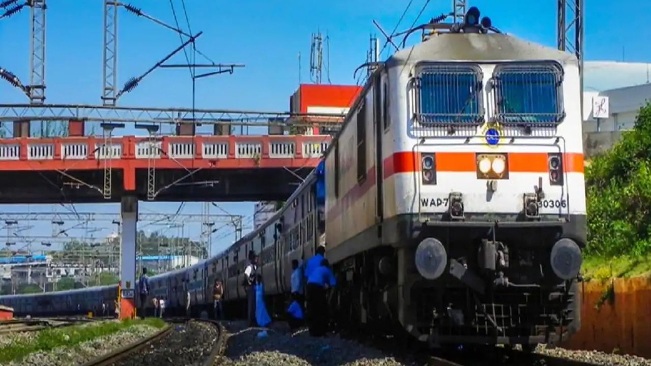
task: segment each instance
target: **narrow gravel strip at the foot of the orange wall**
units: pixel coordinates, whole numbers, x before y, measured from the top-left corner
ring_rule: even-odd
[[[536,353],[555,356],[575,361],[594,363],[607,366],[651,366],[651,359],[631,356],[628,354],[609,354],[600,351],[568,350],[561,347],[547,349],[545,345],[538,345]]]

